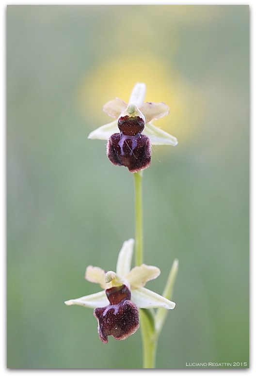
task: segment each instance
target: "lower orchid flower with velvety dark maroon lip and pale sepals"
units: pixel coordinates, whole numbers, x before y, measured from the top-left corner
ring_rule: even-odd
[[[117,259],[116,273],[100,267],[88,266],[85,279],[100,284],[104,290],[89,296],[65,301],[66,305],[95,308],[98,334],[103,343],[108,336],[126,339],[139,328],[138,308],[173,309],[175,303],[144,288],[146,282],[156,279],[160,269],[154,266],[131,267],[134,239],[125,241]]]

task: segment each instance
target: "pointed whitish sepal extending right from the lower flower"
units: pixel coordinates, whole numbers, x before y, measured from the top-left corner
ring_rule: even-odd
[[[150,291],[147,288],[138,288],[131,291],[131,300],[138,306],[138,308],[164,308],[173,309],[175,302],[164,298],[157,293]]]

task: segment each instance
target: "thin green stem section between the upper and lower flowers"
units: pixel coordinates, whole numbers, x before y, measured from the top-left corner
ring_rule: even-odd
[[[143,263],[142,171],[134,176],[135,200],[135,265]]]

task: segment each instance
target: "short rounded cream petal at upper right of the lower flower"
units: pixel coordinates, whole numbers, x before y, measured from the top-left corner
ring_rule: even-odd
[[[146,282],[156,279],[159,275],[160,269],[158,267],[142,264],[141,266],[133,267],[126,275],[126,280],[128,280],[131,289],[137,289],[144,287]]]

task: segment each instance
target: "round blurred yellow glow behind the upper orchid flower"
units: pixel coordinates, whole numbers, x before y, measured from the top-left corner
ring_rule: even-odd
[[[106,59],[86,72],[78,91],[78,106],[84,119],[94,119],[98,126],[110,122],[102,112],[102,106],[114,97],[128,102],[137,81],[146,84],[145,101],[165,102],[170,108],[169,115],[154,124],[182,140],[183,144],[192,142],[202,125],[203,98],[174,65],[150,54]]]

